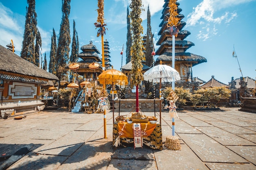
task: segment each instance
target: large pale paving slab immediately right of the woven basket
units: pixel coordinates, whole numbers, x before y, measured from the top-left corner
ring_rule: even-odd
[[[194,151],[194,153],[204,162],[225,162],[225,163],[248,163],[238,155],[222,146],[207,135],[182,134],[179,133],[184,142]]]

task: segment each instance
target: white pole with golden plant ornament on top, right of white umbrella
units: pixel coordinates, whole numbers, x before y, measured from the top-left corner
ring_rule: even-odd
[[[177,13],[177,4],[176,4],[177,0],[170,0],[168,3],[168,7],[169,7],[169,13],[170,13],[170,17],[168,18],[168,23],[167,23],[167,27],[169,29],[169,32],[172,36],[172,68],[175,69],[175,37],[177,37],[179,30],[177,28],[177,25],[180,24],[180,18],[177,17],[178,13]],[[173,92],[175,92],[175,81],[172,82],[172,89]],[[175,135],[175,119],[172,118],[172,135]]]

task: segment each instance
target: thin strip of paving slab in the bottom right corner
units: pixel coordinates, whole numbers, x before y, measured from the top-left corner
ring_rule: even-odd
[[[252,163],[205,163],[210,170],[255,170]]]

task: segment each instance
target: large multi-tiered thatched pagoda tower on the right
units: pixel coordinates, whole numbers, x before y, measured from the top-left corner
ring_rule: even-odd
[[[158,33],[160,38],[157,41],[157,45],[160,45],[160,47],[156,51],[156,55],[159,55],[159,57],[157,57],[155,65],[158,65],[162,60],[162,64],[172,66],[172,36],[166,26],[168,23],[168,17],[170,16],[170,13],[168,12],[169,0],[164,0],[164,2],[164,9],[162,11],[161,17],[162,22],[159,24],[159,27],[161,27]],[[179,2],[176,2],[176,4],[177,6],[180,5]],[[184,18],[184,15],[180,14],[181,11],[182,9],[178,7],[178,15],[176,17],[179,17],[180,20]],[[180,32],[175,38],[175,70],[177,70],[181,76],[181,80],[176,83],[178,87],[189,87],[192,90],[194,88],[192,67],[200,63],[207,62],[207,60],[200,55],[186,52],[187,49],[189,49],[191,46],[194,46],[194,43],[184,40],[191,34],[189,31],[182,30],[185,25],[186,22],[180,21],[180,24],[177,26]]]

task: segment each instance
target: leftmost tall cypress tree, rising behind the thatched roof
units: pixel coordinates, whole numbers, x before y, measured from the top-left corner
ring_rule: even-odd
[[[22,49],[20,52],[20,57],[35,64],[35,45],[34,40],[37,34],[37,15],[36,15],[36,2],[35,0],[27,0],[26,7],[26,21],[25,30],[22,41]]]

